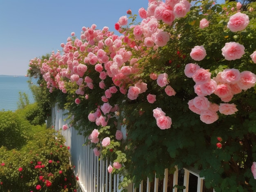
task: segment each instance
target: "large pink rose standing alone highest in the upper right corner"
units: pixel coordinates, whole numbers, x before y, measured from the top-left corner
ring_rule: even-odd
[[[249,24],[249,17],[245,13],[237,12],[229,18],[227,28],[232,32],[243,31]]]

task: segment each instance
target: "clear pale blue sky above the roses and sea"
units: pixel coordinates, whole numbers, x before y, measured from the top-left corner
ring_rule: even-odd
[[[71,32],[80,36],[92,24],[115,31],[128,9],[138,14],[147,6],[148,0],[0,0],[0,75],[26,75],[29,60],[62,50]]]

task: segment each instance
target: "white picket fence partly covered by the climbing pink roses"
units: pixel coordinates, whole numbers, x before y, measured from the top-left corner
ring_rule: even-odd
[[[58,109],[57,106],[52,108],[52,116],[47,121],[47,125],[54,126],[57,131],[64,124],[69,125],[67,112],[67,110]],[[108,173],[107,168],[111,162],[96,157],[90,146],[84,145],[83,135],[78,135],[78,131],[74,128],[62,131],[61,134],[66,139],[65,145],[70,146],[70,163],[75,166],[75,174],[79,177],[78,192],[121,192],[122,189],[119,189],[118,186],[122,178],[118,174]],[[189,183],[191,180],[193,182]],[[176,169],[171,176],[168,174],[168,169],[165,169],[163,181],[159,181],[155,177],[153,183],[147,179],[141,181],[138,189],[134,188],[132,184],[126,189],[128,192],[178,192],[177,188],[173,189],[175,185],[184,185],[186,188],[183,189],[183,192],[214,192],[214,190],[204,188],[204,180],[196,171],[186,168],[180,171]]]

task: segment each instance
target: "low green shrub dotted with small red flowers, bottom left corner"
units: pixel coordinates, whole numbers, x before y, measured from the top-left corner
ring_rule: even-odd
[[[21,150],[0,148],[0,191],[76,191],[69,147],[55,130],[38,131]]]

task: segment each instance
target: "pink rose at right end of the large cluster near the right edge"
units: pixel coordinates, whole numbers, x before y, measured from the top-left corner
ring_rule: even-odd
[[[251,87],[255,86],[256,82],[256,75],[251,71],[243,71],[240,73],[240,80],[237,82],[238,86],[243,89],[247,90]]]

